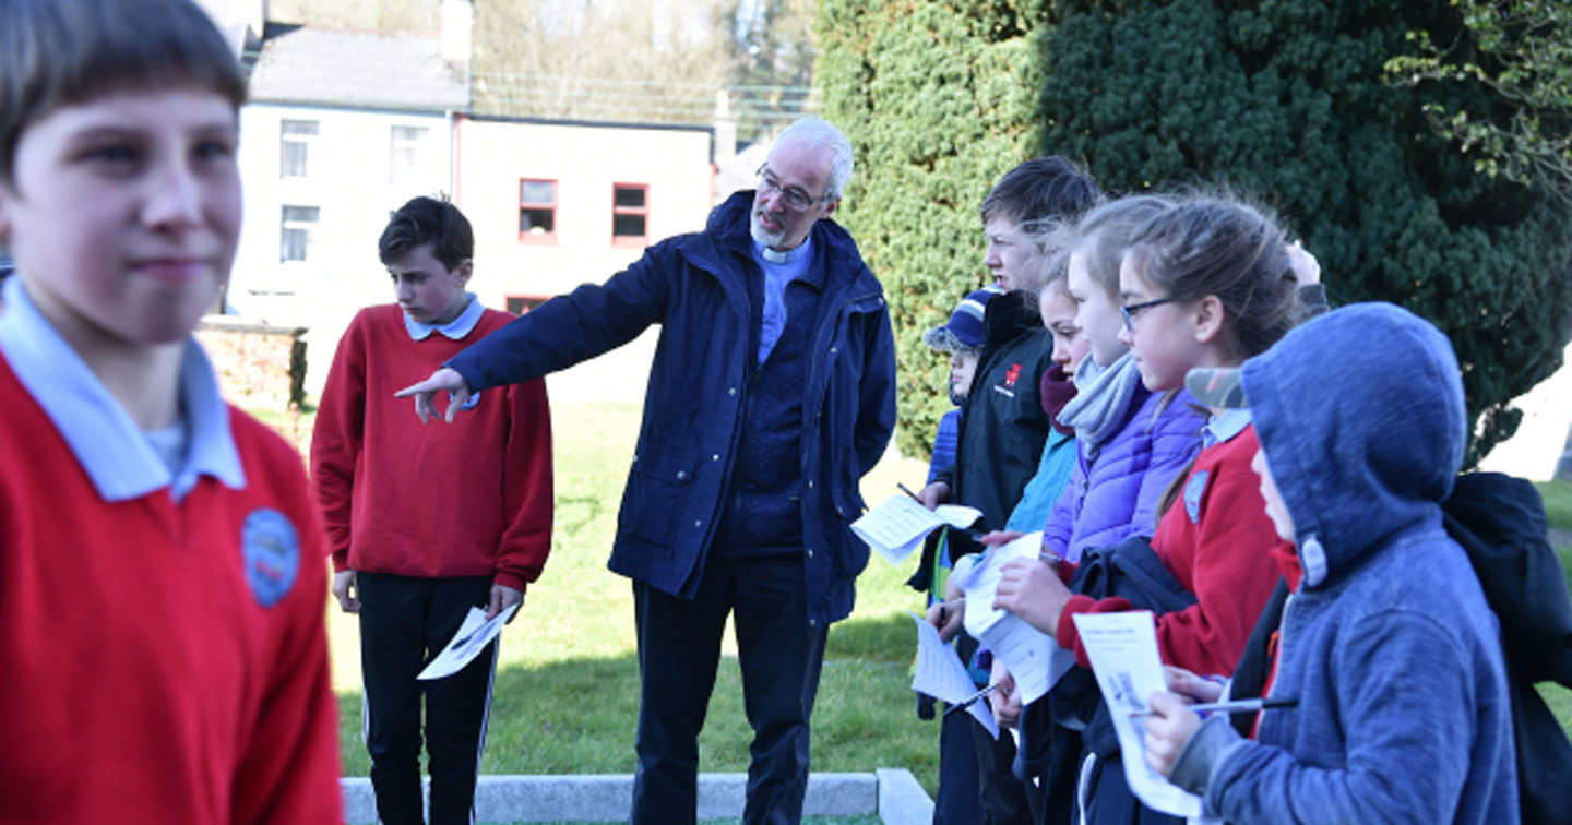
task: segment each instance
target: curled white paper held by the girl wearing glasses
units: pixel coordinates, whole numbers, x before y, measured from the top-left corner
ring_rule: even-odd
[[[1075,666],[1075,654],[1058,646],[1025,619],[994,607],[1000,567],[1017,558],[1036,561],[1042,548],[1042,533],[1028,533],[978,558],[970,570],[953,580],[967,594],[965,627],[994,657],[1009,668],[1020,702],[1042,698],[1066,671]]]

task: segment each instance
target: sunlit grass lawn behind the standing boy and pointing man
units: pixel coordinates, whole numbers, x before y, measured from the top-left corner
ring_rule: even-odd
[[[627,578],[605,569],[605,559],[638,434],[638,412],[632,404],[553,404],[552,558],[541,580],[531,585],[519,618],[503,633],[483,773],[634,770],[638,718],[634,594]],[[866,497],[883,500],[896,481],[920,484],[924,473],[921,462],[891,454],[865,481]],[[813,717],[813,767],[816,772],[907,768],[932,795],[938,784],[938,726],[920,721],[915,713],[909,665],[916,632],[905,611],[918,610],[921,597],[904,586],[907,575],[910,570],[874,558],[857,583],[857,611],[830,629]],[[355,618],[330,603],[329,635],[344,775],[365,776],[369,765],[360,739]],[[723,654],[700,737],[700,770],[706,773],[745,772],[753,735],[742,709],[729,630]]]

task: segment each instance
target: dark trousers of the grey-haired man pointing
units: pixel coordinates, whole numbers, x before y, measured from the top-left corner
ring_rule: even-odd
[[[742,699],[753,726],[745,825],[794,825],[808,790],[808,718],[825,629],[808,627],[802,558],[715,558],[693,600],[634,581],[638,632],[638,765],[634,825],[690,825],[698,734],[715,688],[726,614],[737,630]]]

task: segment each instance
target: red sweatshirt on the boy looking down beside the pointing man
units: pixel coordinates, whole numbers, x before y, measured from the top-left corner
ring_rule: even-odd
[[[453,424],[421,424],[412,401],[393,398],[509,321],[486,310],[459,341],[440,332],[415,341],[388,303],[349,324],[311,434],[335,570],[484,575],[520,591],[539,578],[552,550],[545,382],[487,390]]]

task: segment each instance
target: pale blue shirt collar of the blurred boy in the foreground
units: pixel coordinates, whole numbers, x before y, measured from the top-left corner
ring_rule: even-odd
[[[185,465],[173,475],[104,382],[38,311],[22,289],[22,278],[5,283],[0,354],[53,421],[104,501],[129,501],[163,487],[179,501],[204,475],[236,490],[245,487],[241,454],[230,432],[230,407],[195,339],[185,343],[179,376],[181,412],[190,440]]]

